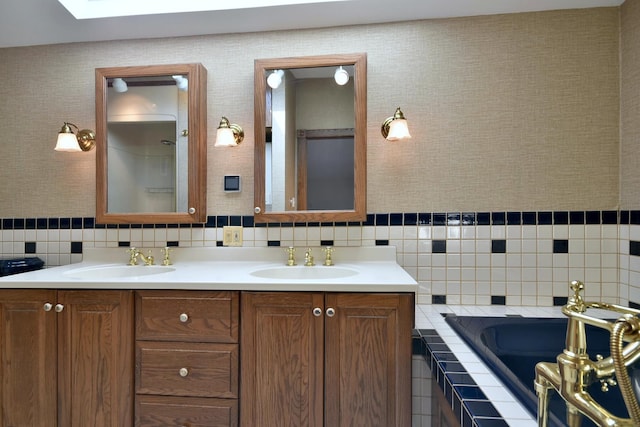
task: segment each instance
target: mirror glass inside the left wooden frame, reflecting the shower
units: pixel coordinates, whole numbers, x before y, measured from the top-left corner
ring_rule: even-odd
[[[187,78],[117,77],[108,84],[107,181],[119,189],[108,194],[108,212],[186,212]]]

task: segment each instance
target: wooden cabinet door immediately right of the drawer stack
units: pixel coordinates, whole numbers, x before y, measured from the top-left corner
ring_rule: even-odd
[[[242,293],[242,426],[323,426],[323,306],[322,293]]]

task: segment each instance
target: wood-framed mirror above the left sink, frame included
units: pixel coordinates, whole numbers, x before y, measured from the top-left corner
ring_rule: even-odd
[[[96,222],[206,222],[202,64],[96,68]]]

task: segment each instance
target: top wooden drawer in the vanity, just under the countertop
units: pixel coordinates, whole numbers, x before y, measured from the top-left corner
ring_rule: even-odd
[[[238,292],[136,292],[136,339],[238,342]]]

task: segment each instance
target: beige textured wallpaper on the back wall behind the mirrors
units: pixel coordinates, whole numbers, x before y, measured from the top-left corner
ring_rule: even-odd
[[[209,72],[208,213],[250,215],[253,60],[352,52],[368,55],[369,212],[614,209],[618,12],[0,49],[0,217],[93,216],[95,153],[54,152],[62,122],[95,126],[94,68],[179,62]],[[391,144],[397,106],[413,139]],[[212,146],[223,114],[245,129],[237,148]]]

